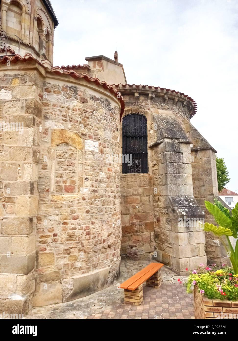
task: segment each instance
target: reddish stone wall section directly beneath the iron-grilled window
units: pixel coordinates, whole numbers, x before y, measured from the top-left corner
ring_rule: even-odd
[[[154,253],[153,181],[149,174],[121,176],[121,255],[151,259]]]

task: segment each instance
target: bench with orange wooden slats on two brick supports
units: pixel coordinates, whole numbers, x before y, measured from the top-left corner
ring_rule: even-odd
[[[134,304],[139,306],[143,300],[143,283],[146,281],[146,285],[158,289],[161,285],[160,269],[162,263],[150,263],[144,269],[137,272],[120,285],[121,289],[124,289],[124,300],[126,304]]]

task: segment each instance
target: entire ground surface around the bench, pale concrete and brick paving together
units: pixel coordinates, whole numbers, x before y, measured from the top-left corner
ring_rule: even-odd
[[[118,285],[149,264],[149,261],[122,260],[117,283],[90,296],[57,305],[34,308],[25,318],[88,318],[88,319],[140,319],[140,318],[194,318],[193,296],[186,294],[179,277],[164,266],[159,289],[143,287],[141,306],[125,305],[124,290]]]

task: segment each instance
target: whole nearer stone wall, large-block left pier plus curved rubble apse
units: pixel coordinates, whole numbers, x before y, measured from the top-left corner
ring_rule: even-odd
[[[1,65],[0,310],[89,295],[119,275],[116,97],[36,62]],[[38,182],[38,184],[37,184]]]

